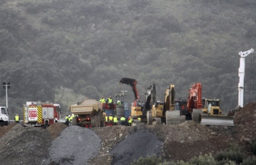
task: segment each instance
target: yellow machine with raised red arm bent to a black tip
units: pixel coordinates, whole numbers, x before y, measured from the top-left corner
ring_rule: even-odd
[[[139,102],[139,93],[136,88],[137,81],[132,78],[122,78],[120,80],[120,83],[124,83],[127,85],[130,85],[131,88],[133,89],[134,93],[134,102],[131,105],[131,116],[133,119],[137,119],[138,117],[143,117],[145,114],[143,114],[143,104]]]

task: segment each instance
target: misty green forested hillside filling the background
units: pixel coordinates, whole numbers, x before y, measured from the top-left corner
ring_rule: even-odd
[[[170,83],[186,99],[201,82],[203,97],[234,109],[238,52],[256,48],[255,9],[255,0],[1,0],[0,83],[11,82],[10,115],[26,101],[66,112],[85,97],[115,96],[122,77],[138,81],[141,100],[152,83],[163,101]],[[256,98],[254,56],[246,58],[245,104]],[[122,90],[132,102],[131,88]],[[4,89],[0,97],[5,106]]]

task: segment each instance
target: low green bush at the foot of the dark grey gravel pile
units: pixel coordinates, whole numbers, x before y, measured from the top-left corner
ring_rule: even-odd
[[[146,158],[140,157],[138,160],[133,160],[130,165],[157,165],[158,163],[162,163],[162,158],[157,158],[156,155],[153,155]]]

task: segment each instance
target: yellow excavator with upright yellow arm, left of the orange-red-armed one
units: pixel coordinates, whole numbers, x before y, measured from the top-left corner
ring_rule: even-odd
[[[165,101],[156,101],[150,111],[147,111],[147,124],[180,124],[180,111],[175,111],[174,84],[167,87]]]

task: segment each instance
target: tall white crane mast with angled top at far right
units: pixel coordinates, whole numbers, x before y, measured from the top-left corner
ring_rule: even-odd
[[[248,51],[240,51],[238,54],[240,56],[240,67],[238,69],[238,106],[243,107],[243,96],[244,96],[244,83],[245,83],[245,57],[250,53],[253,53],[254,49],[251,48]]]

